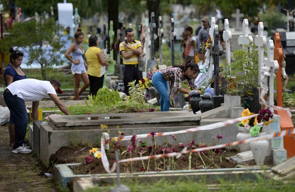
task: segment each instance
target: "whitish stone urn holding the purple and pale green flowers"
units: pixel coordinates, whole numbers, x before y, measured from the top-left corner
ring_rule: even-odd
[[[265,132],[261,132],[257,135],[257,137],[263,136],[265,134]],[[257,165],[263,165],[268,149],[268,141],[265,139],[252,141],[250,142],[250,148],[253,153],[255,163]]]

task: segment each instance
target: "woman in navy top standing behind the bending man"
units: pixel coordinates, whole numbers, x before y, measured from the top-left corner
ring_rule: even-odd
[[[12,82],[21,80],[21,79],[27,79],[27,75],[25,72],[20,68],[22,64],[22,58],[24,57],[24,54],[20,51],[13,50],[10,48],[9,52],[10,54],[10,62],[7,65],[7,67],[4,70],[4,81],[6,87]],[[12,116],[10,114],[9,123],[8,123],[8,131],[9,131],[9,145],[14,145],[14,121],[12,119]]]

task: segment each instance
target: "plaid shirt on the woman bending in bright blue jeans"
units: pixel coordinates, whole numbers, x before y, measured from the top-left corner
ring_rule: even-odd
[[[169,70],[169,77],[168,77]],[[182,88],[182,81],[187,78],[187,76],[183,76],[183,71],[179,67],[165,67],[163,69],[158,70],[161,74],[168,77],[170,79],[170,90],[173,95],[174,90],[174,82],[176,84],[176,89],[179,90]],[[196,85],[194,84],[193,78],[187,79],[189,82],[189,86],[191,90],[196,89]]]

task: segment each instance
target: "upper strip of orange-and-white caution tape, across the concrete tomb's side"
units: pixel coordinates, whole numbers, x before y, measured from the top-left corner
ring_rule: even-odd
[[[184,129],[184,130],[180,130],[180,131],[155,133],[154,137],[215,129],[215,128],[219,128],[219,127],[228,126],[228,125],[233,124],[233,123],[238,123],[238,122],[240,122],[242,120],[250,119],[250,118],[255,117],[257,115],[258,114],[249,115],[249,116],[245,116],[245,117],[240,117],[240,118],[231,119],[231,120],[227,120],[227,121],[222,121],[222,122],[218,122],[218,123],[212,123],[212,124],[209,124],[209,125],[194,127],[194,128],[190,128],[190,129]],[[147,138],[147,137],[152,137],[152,135],[150,133],[149,134],[136,135],[136,139]],[[132,138],[132,135],[120,136],[120,137],[110,137],[109,139],[107,139],[105,141],[105,144],[110,144],[110,141],[112,139],[114,139],[114,141],[119,141],[119,140],[120,141],[127,141],[127,140],[130,140],[131,138]]]

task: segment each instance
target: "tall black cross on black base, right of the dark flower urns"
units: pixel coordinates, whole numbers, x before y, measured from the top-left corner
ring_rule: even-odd
[[[219,32],[218,29],[214,29],[214,46],[213,44],[210,47],[210,53],[213,55],[214,58],[214,97],[213,97],[213,104],[214,108],[220,107],[221,103],[224,102],[224,97],[219,95],[219,56],[222,55],[223,49],[222,45],[219,45]],[[209,71],[209,70],[208,70]]]

